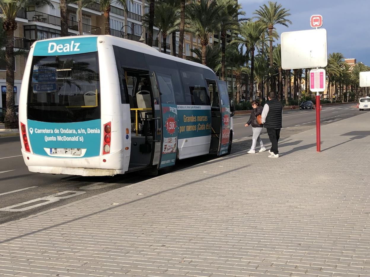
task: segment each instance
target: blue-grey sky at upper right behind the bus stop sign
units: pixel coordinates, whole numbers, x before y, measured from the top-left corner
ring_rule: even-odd
[[[323,16],[327,31],[327,53],[340,52],[345,58],[355,58],[370,66],[370,0],[273,0],[290,10],[292,25],[276,26],[283,32],[310,30],[310,17]],[[238,0],[246,17],[268,4],[268,0]],[[279,41],[280,43],[280,41]],[[304,41],[302,41],[304,43]]]

